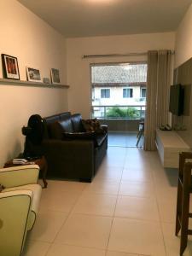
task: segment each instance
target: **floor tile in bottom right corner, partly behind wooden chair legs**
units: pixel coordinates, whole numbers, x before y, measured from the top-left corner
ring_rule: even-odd
[[[163,235],[166,243],[166,255],[178,256],[180,250],[180,235],[175,236],[175,224],[162,224]],[[188,246],[183,256],[192,255],[192,237],[189,236]]]

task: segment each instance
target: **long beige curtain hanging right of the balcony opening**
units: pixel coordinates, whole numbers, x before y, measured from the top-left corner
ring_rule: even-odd
[[[168,122],[171,50],[148,51],[147,107],[144,149],[155,150],[155,130]]]

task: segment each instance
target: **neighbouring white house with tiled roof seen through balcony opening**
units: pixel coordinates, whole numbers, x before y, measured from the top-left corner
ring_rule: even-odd
[[[141,119],[146,105],[146,63],[91,65],[92,116]]]

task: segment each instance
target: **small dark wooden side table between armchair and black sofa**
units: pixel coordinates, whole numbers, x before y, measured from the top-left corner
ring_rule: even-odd
[[[35,165],[38,165],[39,166],[39,169],[40,169],[40,172],[42,172],[42,180],[43,180],[43,183],[44,183],[44,188],[47,188],[47,181],[46,181],[46,175],[47,175],[47,161],[45,159],[44,156],[42,156],[42,158],[38,158],[36,160],[31,160],[29,162],[34,162]],[[26,165],[27,162],[26,162]],[[4,168],[6,167],[13,167],[13,166],[21,166],[21,165],[15,165],[13,163],[13,160],[9,160],[7,161],[5,164],[4,164]],[[23,166],[23,165],[22,165]]]

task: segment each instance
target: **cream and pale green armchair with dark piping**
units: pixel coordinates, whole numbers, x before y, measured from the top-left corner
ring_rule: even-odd
[[[19,256],[23,250],[41,198],[38,172],[36,165],[0,169],[0,255]]]

